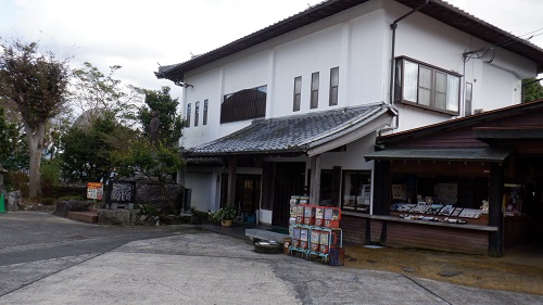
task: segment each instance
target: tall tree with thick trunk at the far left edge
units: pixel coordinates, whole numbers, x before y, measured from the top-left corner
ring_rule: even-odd
[[[2,40],[0,47],[0,98],[21,113],[30,156],[29,196],[39,196],[46,124],[64,109],[68,63],[40,52],[37,42]]]

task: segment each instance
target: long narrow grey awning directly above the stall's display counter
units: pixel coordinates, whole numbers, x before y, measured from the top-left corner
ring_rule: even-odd
[[[503,162],[513,153],[504,148],[388,149],[366,154],[366,160]]]

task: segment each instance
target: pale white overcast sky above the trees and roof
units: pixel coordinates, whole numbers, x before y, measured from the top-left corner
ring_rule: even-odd
[[[174,87],[153,72],[274,24],[320,0],[0,0],[0,36],[40,40],[102,72],[122,65],[125,84]],[[541,0],[450,0],[514,35],[534,31],[543,47]],[[538,31],[539,30],[539,31]],[[525,37],[527,38],[527,37]],[[174,94],[180,94],[175,91]]]

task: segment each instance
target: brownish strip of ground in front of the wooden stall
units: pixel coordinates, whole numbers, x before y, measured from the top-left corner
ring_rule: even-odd
[[[345,266],[392,271],[460,285],[543,295],[543,252],[500,258],[363,245],[345,247]],[[540,255],[541,254],[541,255]],[[532,255],[533,256],[533,255]]]

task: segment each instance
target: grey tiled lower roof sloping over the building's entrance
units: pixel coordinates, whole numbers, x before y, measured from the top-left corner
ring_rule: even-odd
[[[344,132],[356,130],[387,112],[388,104],[368,104],[304,115],[256,119],[215,141],[191,148],[189,156],[227,154],[303,154]]]

